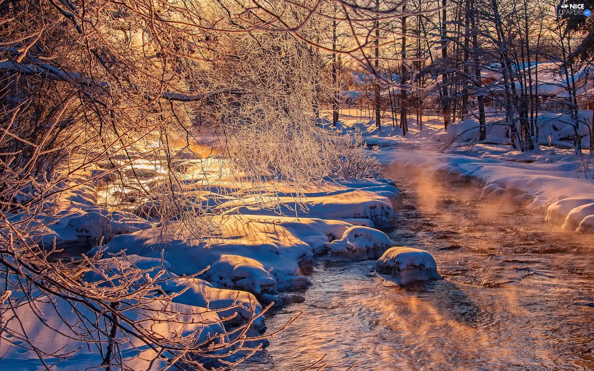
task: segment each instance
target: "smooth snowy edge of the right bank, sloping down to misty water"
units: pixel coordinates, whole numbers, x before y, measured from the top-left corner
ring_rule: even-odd
[[[575,159],[545,151],[498,156],[494,145],[479,151],[440,153],[437,148],[384,148],[378,160],[396,174],[422,173],[483,188],[482,199],[520,204],[568,232],[594,233],[594,180],[579,177]]]

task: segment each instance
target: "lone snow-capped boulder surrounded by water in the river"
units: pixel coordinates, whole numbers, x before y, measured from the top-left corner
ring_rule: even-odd
[[[426,250],[394,247],[384,252],[375,264],[375,272],[399,285],[415,281],[441,280],[435,259]]]

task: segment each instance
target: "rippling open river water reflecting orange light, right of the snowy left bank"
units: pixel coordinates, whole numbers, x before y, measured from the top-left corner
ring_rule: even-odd
[[[375,262],[320,262],[305,302],[267,325],[304,315],[240,369],[296,370],[324,354],[327,370],[594,369],[591,236],[482,204],[473,185],[393,179],[419,210],[386,233],[429,250],[445,280],[385,287],[366,275]]]

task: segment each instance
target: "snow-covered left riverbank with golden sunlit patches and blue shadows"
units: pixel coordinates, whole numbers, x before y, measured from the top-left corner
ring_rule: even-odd
[[[150,182],[156,174],[147,176]],[[217,234],[210,241],[196,243],[190,238],[172,238],[150,215],[101,204],[98,200],[105,200],[105,192],[113,193],[109,187],[99,192],[96,186],[71,187],[48,203],[58,217],[39,231],[44,234],[42,243],[50,248],[55,240],[60,248],[67,243],[92,246],[103,242],[87,253],[100,253],[103,259],[97,261],[93,271],[84,274],[83,281],[117,286],[122,272],[140,269],[146,278],[136,280],[155,280],[163,294],[171,297],[170,302],[163,300],[161,307],[157,303],[155,313],[180,316],[175,319],[177,325],[163,322],[159,327],[160,317],[138,310],[142,326],[164,338],[172,333],[200,334],[195,340],[198,342],[221,334],[233,341],[241,334],[236,328],[247,324],[247,335],[263,332],[263,306],[258,301],[283,302],[286,297],[279,291],[307,287],[309,280],[304,272],[311,268],[314,255],[341,261],[377,259],[391,243],[386,234],[371,227],[394,225],[394,209],[402,204],[398,189],[387,179],[328,179],[320,185],[306,186],[299,198],[285,187],[274,196],[263,194],[263,198],[270,198],[272,207],[261,200],[230,199],[228,189],[216,194],[217,188],[213,187],[213,198],[230,201],[216,203],[216,207],[225,210],[211,220],[218,226]],[[68,361],[60,362],[56,369],[100,364],[99,348],[87,351],[83,342],[74,340],[77,335],[69,335],[80,313],[71,313],[66,300],[53,298],[55,304],[48,300],[40,302],[39,311],[27,306],[18,309],[20,316],[31,321],[5,324],[15,326],[15,330],[23,326],[23,331],[30,332],[37,326],[33,319],[40,316],[57,330],[41,332],[35,340],[39,349],[48,354],[60,348],[72,352]],[[71,316],[64,317],[64,313]],[[88,310],[83,310],[83,315],[105,321]],[[132,342],[120,347],[122,359],[131,369],[146,368],[156,357],[150,348],[135,349],[140,345]],[[11,369],[42,367],[40,357],[32,349],[11,347],[4,342],[0,351],[5,353],[1,364]],[[163,362],[166,360],[156,364],[163,366]]]

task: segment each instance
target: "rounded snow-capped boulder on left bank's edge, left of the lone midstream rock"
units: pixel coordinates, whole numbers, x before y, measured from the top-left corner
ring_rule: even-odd
[[[223,287],[239,287],[257,294],[276,292],[276,277],[260,262],[244,256],[221,255],[204,275]]]

